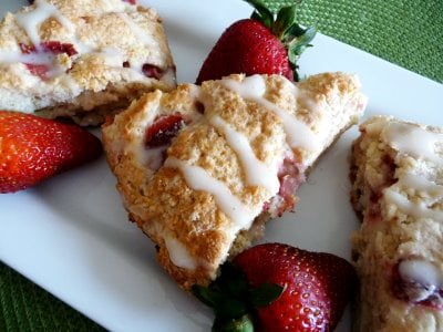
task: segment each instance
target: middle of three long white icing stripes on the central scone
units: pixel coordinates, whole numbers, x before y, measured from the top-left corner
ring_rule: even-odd
[[[250,146],[248,138],[238,133],[219,116],[213,116],[209,123],[225,134],[226,141],[236,152],[245,168],[246,181],[249,185],[262,186],[271,195],[278,193],[280,183],[278,180],[277,165],[266,165],[259,160]]]

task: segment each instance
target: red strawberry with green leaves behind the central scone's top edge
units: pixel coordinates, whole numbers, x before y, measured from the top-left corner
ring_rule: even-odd
[[[277,17],[260,0],[246,0],[256,9],[250,19],[235,22],[206,58],[197,84],[234,73],[280,74],[298,81],[297,60],[313,39],[313,28],[295,23],[296,6]]]

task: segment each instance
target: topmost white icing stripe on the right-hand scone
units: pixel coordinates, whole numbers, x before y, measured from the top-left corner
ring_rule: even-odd
[[[418,159],[424,158],[443,165],[442,156],[435,152],[435,144],[443,142],[443,134],[431,133],[412,124],[390,123],[383,135],[398,151]]]

